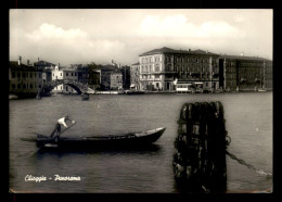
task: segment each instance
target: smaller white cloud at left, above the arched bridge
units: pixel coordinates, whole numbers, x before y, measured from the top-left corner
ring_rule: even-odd
[[[56,27],[55,25],[44,23],[38,29],[26,35],[27,38],[33,40],[42,39],[79,39],[86,38],[88,34],[79,28],[64,29],[62,27]]]

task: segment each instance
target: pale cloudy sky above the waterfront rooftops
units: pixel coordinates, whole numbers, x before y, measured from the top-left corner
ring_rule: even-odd
[[[163,47],[272,60],[271,9],[12,9],[9,26],[23,63],[131,65]]]

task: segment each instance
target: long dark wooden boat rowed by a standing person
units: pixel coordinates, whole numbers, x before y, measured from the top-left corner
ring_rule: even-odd
[[[161,127],[124,135],[56,138],[50,138],[49,136],[38,134],[37,138],[21,138],[21,140],[36,142],[38,148],[142,147],[156,141],[165,130],[165,127]]]

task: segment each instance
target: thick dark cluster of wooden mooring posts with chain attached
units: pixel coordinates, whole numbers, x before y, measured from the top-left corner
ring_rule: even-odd
[[[185,103],[175,139],[174,174],[180,192],[225,192],[226,124],[221,102]]]

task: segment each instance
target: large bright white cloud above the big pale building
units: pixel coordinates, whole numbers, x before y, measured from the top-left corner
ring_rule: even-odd
[[[241,37],[244,31],[223,21],[205,22],[200,25],[189,23],[185,15],[177,14],[167,17],[148,15],[141,22],[139,35],[154,37]]]

